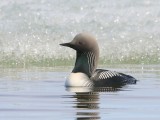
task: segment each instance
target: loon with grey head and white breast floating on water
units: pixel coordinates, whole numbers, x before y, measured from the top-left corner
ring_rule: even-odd
[[[79,33],[71,42],[60,45],[76,50],[75,66],[65,82],[66,87],[119,87],[137,81],[130,75],[96,69],[99,47],[96,39],[88,33]]]

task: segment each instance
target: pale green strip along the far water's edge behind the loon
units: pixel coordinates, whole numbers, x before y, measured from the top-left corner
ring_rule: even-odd
[[[11,59],[12,58],[12,59]],[[73,66],[75,58],[16,58],[7,57],[0,60],[0,67],[57,67],[57,66]],[[158,56],[135,56],[118,58],[101,57],[99,65],[112,65],[112,64],[160,64]]]

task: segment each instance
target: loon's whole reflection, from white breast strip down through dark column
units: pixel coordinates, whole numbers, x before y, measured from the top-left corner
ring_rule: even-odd
[[[73,98],[76,99],[74,107],[76,110],[77,120],[100,120],[99,115],[99,92],[118,91],[118,88],[86,88],[86,87],[69,87],[66,89],[75,92]]]

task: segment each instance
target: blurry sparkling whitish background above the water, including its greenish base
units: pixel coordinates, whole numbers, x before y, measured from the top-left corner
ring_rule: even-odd
[[[0,66],[72,65],[62,48],[93,34],[100,64],[160,63],[159,0],[0,0]]]

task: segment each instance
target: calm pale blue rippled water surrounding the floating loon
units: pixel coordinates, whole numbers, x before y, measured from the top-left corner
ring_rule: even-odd
[[[1,69],[0,119],[159,120],[160,66],[109,69],[133,75],[139,82],[117,91],[67,91],[64,81],[71,68]]]

